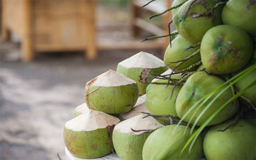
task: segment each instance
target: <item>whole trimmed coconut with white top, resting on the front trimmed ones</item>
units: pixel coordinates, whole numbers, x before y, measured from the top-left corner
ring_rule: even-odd
[[[134,80],[109,70],[87,82],[84,95],[90,109],[105,113],[123,113],[135,105],[138,85]]]

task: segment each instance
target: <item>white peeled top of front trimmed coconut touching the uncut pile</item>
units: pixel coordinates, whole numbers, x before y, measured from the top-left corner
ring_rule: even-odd
[[[127,133],[127,134],[140,134],[141,132],[134,132],[131,128],[134,130],[141,130],[141,129],[156,129],[159,127],[162,127],[163,125],[158,123],[154,118],[152,117],[146,117],[143,118],[145,115],[139,115],[132,117],[130,119],[124,120],[120,123],[118,123],[115,126],[115,130]]]

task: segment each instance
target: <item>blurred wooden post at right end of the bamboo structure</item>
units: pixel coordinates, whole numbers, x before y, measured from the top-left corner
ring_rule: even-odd
[[[85,57],[88,59],[95,59],[97,57],[97,48],[96,48],[96,28],[95,28],[95,1],[88,0],[88,12],[86,19],[86,27],[87,27],[87,49],[85,53]]]

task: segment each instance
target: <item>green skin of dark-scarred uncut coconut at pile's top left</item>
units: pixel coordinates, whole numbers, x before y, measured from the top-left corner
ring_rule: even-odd
[[[214,8],[218,1],[198,0],[191,6],[184,20],[185,13],[193,2],[194,0],[189,0],[184,3],[173,16],[173,22],[182,37],[190,42],[198,43],[202,40],[207,30],[222,24],[221,9],[223,6],[217,7],[213,16],[210,16],[212,8]],[[199,14],[204,16],[197,17]]]

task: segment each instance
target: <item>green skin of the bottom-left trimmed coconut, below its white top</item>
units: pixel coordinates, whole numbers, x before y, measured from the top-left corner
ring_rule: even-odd
[[[112,152],[111,139],[106,128],[72,131],[65,127],[64,142],[70,153],[78,158],[98,158]]]

